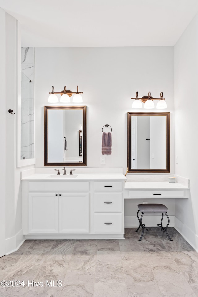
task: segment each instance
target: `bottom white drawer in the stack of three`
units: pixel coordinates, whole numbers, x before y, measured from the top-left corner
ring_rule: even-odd
[[[122,213],[95,213],[94,233],[123,233]]]

